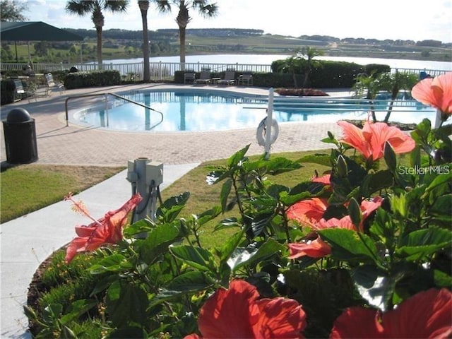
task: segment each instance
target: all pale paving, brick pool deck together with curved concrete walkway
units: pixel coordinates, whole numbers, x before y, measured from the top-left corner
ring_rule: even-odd
[[[128,160],[147,157],[164,164],[164,182],[160,189],[172,184],[186,172],[206,160],[230,157],[245,145],[251,144],[249,155],[262,154],[256,142],[256,129],[220,132],[117,132],[102,129],[67,126],[64,120],[65,100],[73,95],[88,93],[119,93],[126,90],[174,88],[174,85],[125,85],[108,88],[66,90],[59,95],[39,98],[37,102],[23,100],[1,107],[1,119],[13,108],[22,107],[35,119],[37,133],[37,164],[126,166]],[[184,86],[204,88],[205,86]],[[217,89],[217,86],[209,86]],[[268,94],[261,88],[218,87],[218,90],[251,94]],[[347,96],[347,91],[327,91],[334,96]],[[92,99],[73,99],[69,110],[85,107]],[[4,130],[1,124],[1,162],[6,164]],[[271,152],[315,150],[331,148],[321,138],[332,131],[339,135],[335,121],[322,124],[280,124],[278,139]],[[7,165],[7,164],[6,164]],[[18,183],[20,184],[20,183]],[[163,194],[165,191],[163,191]],[[126,170],[81,192],[81,199],[95,218],[107,210],[119,208],[131,196]],[[21,218],[1,225],[1,338],[31,338],[28,319],[23,314],[27,304],[28,287],[37,267],[53,251],[67,244],[75,236],[74,226],[86,224],[86,218],[72,213],[67,201],[60,201]]]

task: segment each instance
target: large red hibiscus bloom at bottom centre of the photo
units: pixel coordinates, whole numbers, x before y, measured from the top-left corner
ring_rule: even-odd
[[[293,299],[258,299],[256,287],[233,280],[229,290],[220,289],[201,308],[201,336],[185,339],[302,338],[306,326],[302,307]]]

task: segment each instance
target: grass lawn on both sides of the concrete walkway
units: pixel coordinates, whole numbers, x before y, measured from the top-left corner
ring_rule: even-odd
[[[316,152],[280,153],[273,154],[272,157],[283,156],[291,160],[297,160],[311,153]],[[328,150],[323,150],[322,153],[328,153]],[[221,184],[209,186],[206,184],[206,174],[209,172],[209,166],[222,166],[225,163],[226,160],[224,159],[204,162],[163,190],[162,199],[166,200],[171,196],[190,191],[191,197],[184,210],[182,210],[181,217],[199,214],[215,205],[219,205]],[[18,218],[34,210],[61,201],[69,192],[77,194],[94,184],[102,182],[122,169],[124,167],[76,167],[33,164],[2,169],[0,173],[1,222]],[[295,186],[298,182],[311,177],[314,174],[314,170],[321,173],[325,169],[322,169],[319,165],[304,164],[304,167],[297,171],[278,175],[275,178],[275,182],[287,186]],[[112,206],[112,209],[114,208],[117,208],[117,206]],[[208,239],[209,242],[213,242],[212,246],[216,246],[221,244],[221,239],[224,239],[225,235],[228,234],[227,231],[234,231],[222,231],[226,232],[226,234],[211,232],[216,222],[222,218],[227,218],[227,215],[220,215],[216,220],[204,227],[201,240]]]

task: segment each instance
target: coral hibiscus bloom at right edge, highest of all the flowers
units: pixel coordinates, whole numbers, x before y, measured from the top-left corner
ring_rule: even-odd
[[[452,114],[452,72],[420,81],[412,88],[411,95],[424,105],[439,109],[441,120],[446,121]]]

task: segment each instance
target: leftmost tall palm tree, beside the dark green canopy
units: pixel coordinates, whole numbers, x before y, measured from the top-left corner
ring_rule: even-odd
[[[78,16],[85,16],[91,13],[91,19],[97,33],[97,63],[102,67],[102,27],[105,17],[102,10],[115,12],[125,12],[129,0],[71,0],[66,4],[66,11]]]

